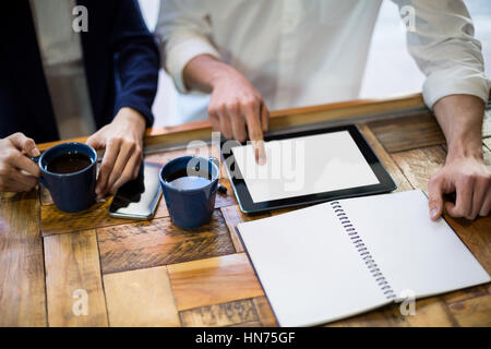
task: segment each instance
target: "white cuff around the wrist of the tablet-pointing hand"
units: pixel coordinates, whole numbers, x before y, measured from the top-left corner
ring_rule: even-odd
[[[180,93],[185,94],[189,92],[183,76],[185,64],[200,55],[209,55],[216,59],[220,58],[218,51],[209,43],[201,38],[192,38],[179,43],[167,52],[167,71],[172,76],[176,88]]]

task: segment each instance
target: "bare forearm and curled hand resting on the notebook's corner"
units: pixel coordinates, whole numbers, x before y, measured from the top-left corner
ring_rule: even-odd
[[[444,210],[467,219],[491,212],[491,168],[482,156],[483,106],[481,99],[470,95],[446,96],[434,105],[448,155],[428,184],[431,219],[438,219]],[[455,194],[455,203],[445,202],[444,194]]]

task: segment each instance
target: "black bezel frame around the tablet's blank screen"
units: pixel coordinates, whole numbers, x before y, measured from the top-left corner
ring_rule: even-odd
[[[364,159],[367,160],[370,168],[372,169],[373,173],[376,176],[376,178],[379,180],[378,184],[342,189],[342,190],[323,192],[323,193],[315,193],[315,194],[309,194],[309,195],[301,195],[301,196],[294,196],[294,197],[286,197],[286,198],[254,203],[252,201],[251,194],[249,193],[249,190],[246,185],[246,181],[243,180],[243,176],[240,172],[240,169],[235,168],[236,160],[233,157],[233,153],[231,151],[235,146],[246,145],[246,143],[241,144],[236,141],[224,141],[224,142],[221,142],[220,154],[221,154],[221,158],[224,159],[225,168],[227,170],[228,178],[230,179],[230,183],[233,189],[233,193],[236,195],[237,202],[239,203],[240,209],[247,214],[259,213],[259,212],[285,208],[285,207],[291,207],[291,206],[300,206],[300,205],[321,203],[321,202],[344,198],[344,197],[380,194],[380,193],[391,192],[391,191],[397,189],[397,185],[395,184],[394,180],[391,178],[391,174],[388,174],[387,170],[382,165],[382,163],[380,161],[379,157],[375,155],[373,149],[370,147],[367,140],[360,133],[358,128],[354,124],[334,127],[334,128],[322,128],[322,129],[310,130],[310,131],[298,131],[298,132],[288,132],[288,133],[265,135],[264,141],[267,142],[267,141],[274,141],[274,140],[295,139],[295,137],[302,137],[302,136],[323,134],[323,133],[333,133],[333,132],[339,132],[339,131],[348,131],[349,132],[349,134],[351,135],[356,145],[358,146],[361,154],[363,155]],[[231,147],[228,146],[230,152],[224,153],[224,143],[225,142],[236,142],[237,145],[233,145]],[[238,179],[238,178],[232,179],[230,177],[231,169],[229,168],[229,165],[233,166],[233,172],[240,173],[240,179]]]

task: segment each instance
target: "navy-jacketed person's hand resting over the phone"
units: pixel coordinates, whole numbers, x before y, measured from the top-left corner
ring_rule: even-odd
[[[94,133],[87,144],[96,151],[105,149],[97,177],[97,200],[139,176],[143,160],[143,136],[146,122],[136,110],[124,107],[111,123]]]

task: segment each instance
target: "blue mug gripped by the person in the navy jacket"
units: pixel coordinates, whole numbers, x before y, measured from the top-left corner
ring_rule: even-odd
[[[71,173],[48,171],[50,160],[62,154],[84,154],[91,159],[86,168]],[[51,193],[55,205],[63,212],[79,212],[95,203],[97,153],[84,143],[62,143],[47,149],[37,160],[41,170],[39,181]]]

